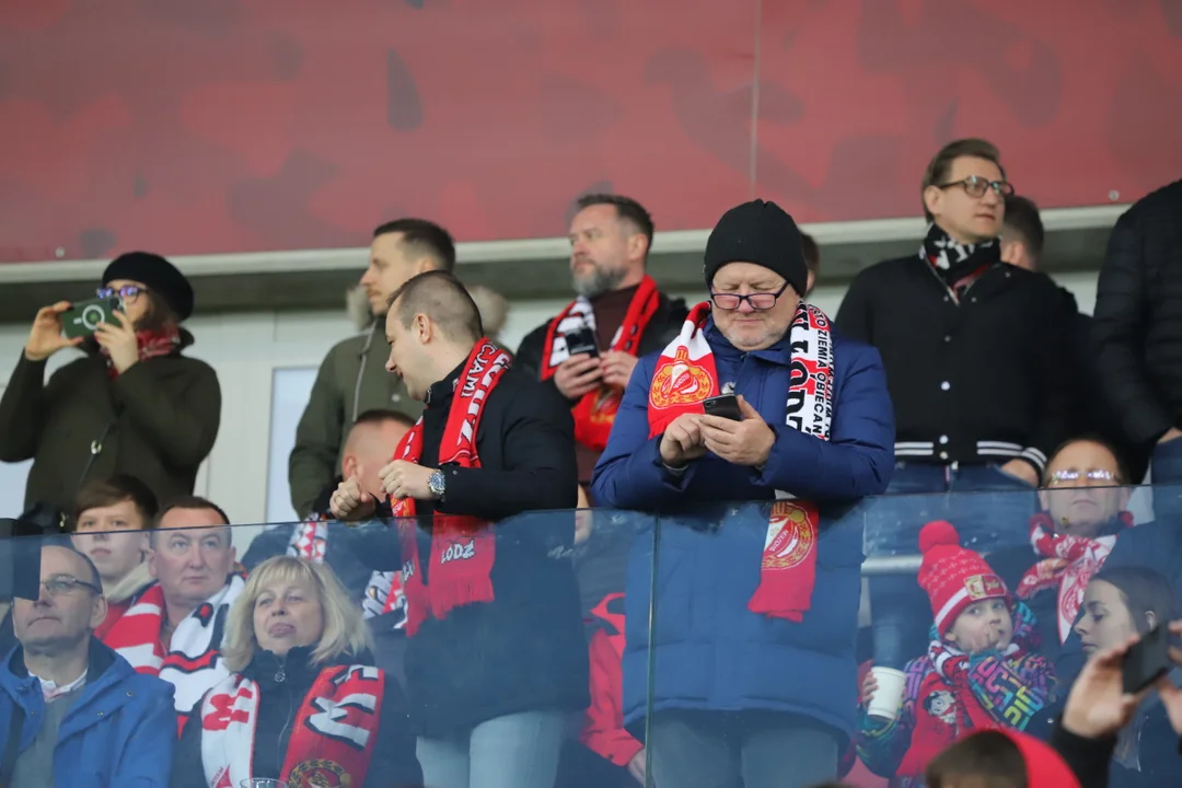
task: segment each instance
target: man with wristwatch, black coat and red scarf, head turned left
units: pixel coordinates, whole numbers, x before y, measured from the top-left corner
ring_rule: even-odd
[[[541,512],[576,503],[570,409],[509,369],[450,274],[420,274],[390,302],[387,369],[426,403],[379,474],[400,517],[423,779],[550,788],[565,715],[589,702],[578,592],[563,558],[573,517]],[[332,496],[342,520],[376,510],[356,476]]]

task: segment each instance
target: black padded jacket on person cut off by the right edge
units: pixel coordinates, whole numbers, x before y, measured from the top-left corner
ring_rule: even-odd
[[[1182,181],[1117,220],[1095,315],[1100,382],[1129,441],[1182,425]]]

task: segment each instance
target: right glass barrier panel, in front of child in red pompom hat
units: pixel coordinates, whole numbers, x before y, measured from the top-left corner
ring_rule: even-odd
[[[654,784],[921,786],[967,731],[1048,740],[1091,655],[1182,619],[1182,488],[995,481],[660,515],[623,658]],[[1180,784],[1177,747],[1151,691],[1112,784]]]

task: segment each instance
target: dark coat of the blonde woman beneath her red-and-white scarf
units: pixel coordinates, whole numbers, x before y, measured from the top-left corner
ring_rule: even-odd
[[[342,657],[332,665],[313,666],[310,664],[311,652],[311,647],[292,649],[280,658],[269,651],[256,651],[251,664],[242,670],[243,676],[259,684],[259,721],[252,754],[254,777],[279,777],[296,716],[322,670],[335,665],[374,664],[371,655],[363,655]],[[201,762],[201,702],[197,702],[176,745],[170,788],[208,786]],[[422,782],[422,771],[415,757],[415,738],[407,722],[405,698],[397,682],[387,678],[377,743],[361,788],[411,788]]]

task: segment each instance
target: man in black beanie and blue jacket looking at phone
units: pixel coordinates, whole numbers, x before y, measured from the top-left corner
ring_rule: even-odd
[[[853,732],[862,529],[834,517],[886,488],[892,409],[878,352],[800,300],[800,232],[777,204],[722,216],[706,282],[713,308],[637,365],[592,486],[668,515],[652,688],[650,565],[630,567],[625,722],[651,689],[658,786],[806,786],[836,776]],[[707,402],[720,392],[738,402]]]

